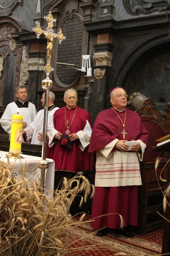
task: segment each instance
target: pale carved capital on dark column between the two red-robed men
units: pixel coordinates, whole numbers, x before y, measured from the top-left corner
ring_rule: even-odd
[[[113,60],[113,54],[110,52],[94,53],[93,59],[97,66],[111,66]]]

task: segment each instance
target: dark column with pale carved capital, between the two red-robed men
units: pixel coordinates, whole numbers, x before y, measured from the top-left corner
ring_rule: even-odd
[[[108,96],[110,94],[111,71],[113,60],[112,36],[99,34],[97,44],[94,45],[96,52],[93,55],[95,65],[93,67],[94,82],[90,88],[89,112],[92,122],[97,114],[108,108]],[[110,50],[110,51],[109,51]]]

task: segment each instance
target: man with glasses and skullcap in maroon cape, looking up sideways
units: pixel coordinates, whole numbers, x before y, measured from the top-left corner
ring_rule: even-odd
[[[126,109],[123,88],[111,91],[112,107],[100,112],[94,122],[89,152],[96,152],[95,193],[91,226],[106,235],[109,228],[133,238],[129,225],[138,225],[138,187],[142,185],[140,160],[148,132],[139,115]],[[120,217],[124,220],[120,229]]]

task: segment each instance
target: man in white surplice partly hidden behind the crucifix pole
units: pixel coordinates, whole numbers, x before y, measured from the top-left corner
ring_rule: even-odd
[[[48,120],[50,120],[58,107],[54,104],[55,94],[49,92],[49,102],[48,102]],[[41,98],[42,106],[45,104],[45,93],[43,93]],[[36,114],[33,122],[23,130],[23,135],[27,136],[27,142],[30,144],[42,145],[43,140],[43,124],[44,124],[44,109],[41,109]]]

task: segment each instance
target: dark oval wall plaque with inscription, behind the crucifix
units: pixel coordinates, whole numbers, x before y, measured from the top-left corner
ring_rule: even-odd
[[[66,38],[58,45],[56,62],[74,64],[81,67],[83,40],[83,25],[81,20],[77,17],[67,19],[62,24],[61,30]],[[55,76],[57,83],[61,87],[74,85],[81,74],[81,71],[61,64],[57,64],[56,70]]]

